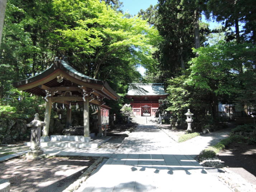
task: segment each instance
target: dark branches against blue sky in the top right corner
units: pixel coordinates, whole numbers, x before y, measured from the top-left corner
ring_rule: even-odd
[[[223,28],[225,29],[235,26],[235,32],[226,33],[227,41],[236,38],[237,43],[249,39],[255,42],[256,25],[253,20],[255,18],[253,10],[255,10],[256,6],[253,0],[209,0],[205,2],[205,5],[207,5],[204,8],[205,15],[208,19],[212,18],[218,22],[222,22],[222,25],[224,25]],[[240,33],[241,28],[243,33]]]

